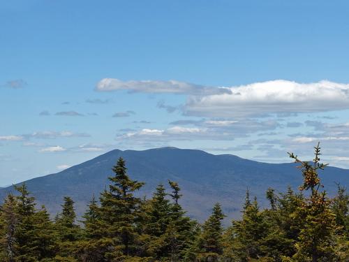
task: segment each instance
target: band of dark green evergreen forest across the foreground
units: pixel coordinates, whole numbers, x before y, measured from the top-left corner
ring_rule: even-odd
[[[144,183],[132,180],[121,158],[82,218],[66,196],[51,219],[23,183],[1,205],[0,261],[349,261],[349,195],[338,184],[336,196],[327,196],[318,176],[327,164],[314,148],[312,161],[290,153],[303,177],[298,189],[268,189],[268,208],[247,190],[240,219],[228,227],[219,203],[202,224],[188,217],[177,182],[138,197]]]

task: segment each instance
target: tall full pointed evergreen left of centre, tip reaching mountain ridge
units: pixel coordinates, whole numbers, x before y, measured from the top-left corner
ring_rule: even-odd
[[[107,225],[105,237],[110,240],[110,252],[105,256],[115,261],[125,261],[137,253],[139,234],[135,230],[140,198],[133,195],[144,183],[131,180],[126,173],[125,161],[119,158],[109,177],[109,191],[101,194],[101,219]]]

